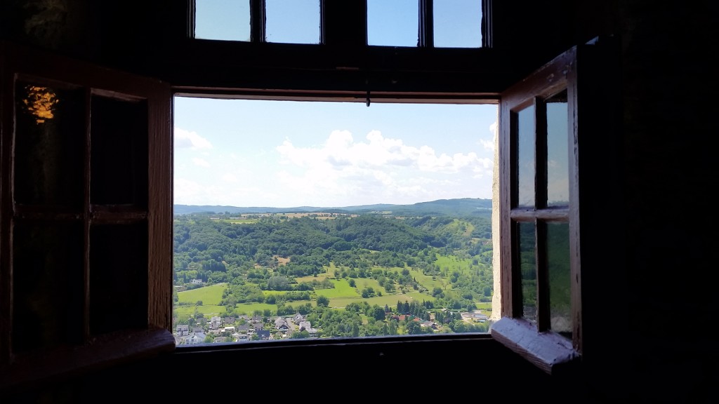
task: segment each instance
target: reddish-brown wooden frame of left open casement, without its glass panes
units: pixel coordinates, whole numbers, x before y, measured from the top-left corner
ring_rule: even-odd
[[[60,55],[30,49],[10,42],[0,42],[0,387],[18,387],[37,380],[52,380],[78,372],[106,367],[131,359],[147,357],[174,349],[170,332],[172,324],[172,154],[170,116],[172,111],[170,86],[155,79],[101,68],[91,63],[65,58]],[[81,156],[83,162],[83,202],[73,208],[27,205],[14,197],[14,137],[15,137],[15,86],[16,81],[27,79],[42,83],[58,83],[78,88],[84,93],[85,140]],[[101,98],[142,100],[147,106],[147,172],[139,173],[147,180],[146,200],[138,203],[93,203],[91,200],[91,99]],[[142,139],[140,139],[142,142]],[[140,167],[142,170],[142,166]],[[152,191],[150,191],[152,190]],[[145,198],[145,197],[142,197]],[[83,310],[70,316],[81,317],[82,330],[75,334],[80,341],[59,341],[38,349],[14,349],[13,272],[22,268],[14,262],[13,228],[17,221],[40,221],[50,224],[72,223],[83,229],[83,240],[78,249],[83,256],[82,268],[68,270],[82,272],[84,290]],[[145,318],[132,318],[128,323],[144,326],[122,326],[111,331],[91,328],[91,273],[99,270],[91,265],[93,226],[146,225],[147,265],[141,277],[147,285]],[[96,228],[98,229],[98,228]],[[143,230],[144,231],[144,230]],[[145,237],[143,237],[145,238]],[[5,252],[8,252],[5,254]],[[144,258],[139,258],[143,260]],[[139,271],[143,273],[142,270]],[[143,295],[145,292],[143,292]],[[168,304],[169,303],[169,304]],[[134,316],[134,315],[133,315]]]

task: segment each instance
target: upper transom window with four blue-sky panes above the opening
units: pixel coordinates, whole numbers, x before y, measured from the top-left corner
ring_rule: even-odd
[[[196,0],[190,36],[242,42],[326,43],[322,21],[325,6],[324,0]],[[486,19],[482,7],[488,6],[490,3],[483,4],[482,0],[369,0],[364,42],[393,47],[489,46],[488,31],[482,28],[488,26],[483,23]]]

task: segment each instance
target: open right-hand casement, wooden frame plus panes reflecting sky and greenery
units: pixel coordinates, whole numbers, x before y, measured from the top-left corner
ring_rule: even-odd
[[[492,335],[550,374],[581,359],[585,323],[597,323],[587,315],[596,303],[584,304],[582,282],[607,277],[594,263],[601,261],[594,243],[605,230],[595,233],[600,224],[582,221],[580,203],[615,194],[606,181],[618,162],[607,163],[613,152],[597,147],[617,133],[614,50],[612,38],[573,47],[500,101],[503,318]],[[596,173],[606,165],[602,180]]]

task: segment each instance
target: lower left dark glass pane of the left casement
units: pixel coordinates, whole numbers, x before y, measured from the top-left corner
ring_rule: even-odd
[[[26,352],[83,337],[83,227],[16,221],[12,349]]]

